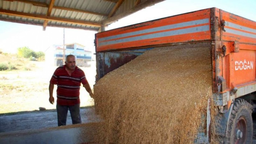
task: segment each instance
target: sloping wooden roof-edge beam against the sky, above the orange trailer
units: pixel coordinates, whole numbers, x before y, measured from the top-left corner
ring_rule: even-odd
[[[114,16],[114,17],[110,17],[108,19],[105,19],[105,20],[101,21],[101,23],[103,25],[109,25],[110,23],[118,21],[120,18],[126,17],[126,16],[128,16],[132,13],[135,13],[135,12],[137,12],[137,11],[143,9],[143,8],[146,8],[148,6],[160,3],[161,1],[165,1],[165,0],[147,0],[147,1],[144,1],[144,3],[140,3],[136,6],[134,6],[133,8],[127,10],[126,12],[120,13],[120,14]]]

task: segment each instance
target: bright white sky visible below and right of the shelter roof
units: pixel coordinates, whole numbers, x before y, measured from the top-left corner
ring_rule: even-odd
[[[133,25],[153,19],[175,16],[196,10],[217,7],[238,16],[256,21],[256,0],[165,0],[112,23],[106,30]],[[65,29],[65,44],[79,43],[95,52],[96,31]],[[45,51],[51,45],[63,45],[63,28],[26,25],[0,21],[0,50],[16,53],[19,47]]]

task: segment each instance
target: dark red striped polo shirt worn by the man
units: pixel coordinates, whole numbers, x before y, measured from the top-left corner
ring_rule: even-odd
[[[65,65],[58,67],[50,80],[51,84],[57,84],[57,104],[75,105],[80,104],[80,86],[87,84],[83,70],[76,66],[74,72],[69,76]]]

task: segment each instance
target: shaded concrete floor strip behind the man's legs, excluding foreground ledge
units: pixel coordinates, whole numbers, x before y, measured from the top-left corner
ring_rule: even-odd
[[[81,108],[82,123],[98,122],[100,118],[94,113],[94,107]],[[56,110],[26,112],[22,114],[0,116],[0,132],[31,130],[57,127]],[[68,112],[67,125],[72,125]]]

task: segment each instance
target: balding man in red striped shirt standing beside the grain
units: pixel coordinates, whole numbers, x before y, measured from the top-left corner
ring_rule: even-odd
[[[58,67],[49,85],[49,101],[54,104],[54,97],[52,96],[54,84],[57,84],[57,117],[58,126],[65,126],[67,121],[68,110],[71,115],[72,124],[81,123],[80,117],[80,86],[81,83],[85,90],[94,96],[90,85],[85,78],[85,73],[76,66],[76,57],[68,55],[66,57],[65,65]]]

